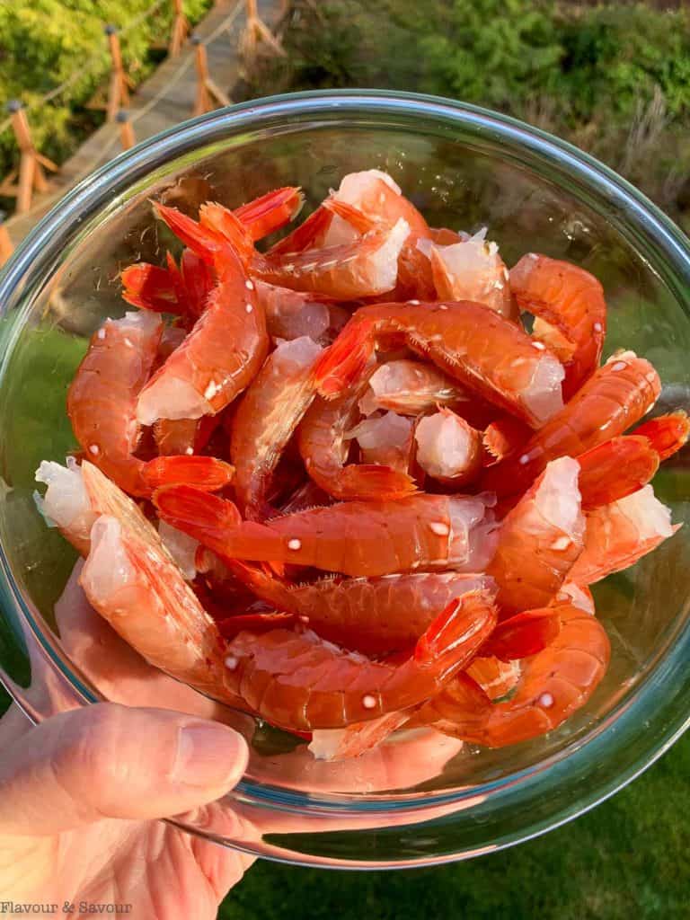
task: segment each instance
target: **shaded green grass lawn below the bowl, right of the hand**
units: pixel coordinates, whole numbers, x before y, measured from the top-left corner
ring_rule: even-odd
[[[261,862],[222,920],[618,920],[690,916],[690,735],[613,799],[551,834],[442,868],[327,872]]]

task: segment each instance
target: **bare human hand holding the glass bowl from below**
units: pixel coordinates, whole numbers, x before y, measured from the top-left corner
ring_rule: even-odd
[[[121,642],[77,577],[55,610],[65,646],[110,698],[150,707],[103,703],[35,728],[12,707],[0,720],[0,904],[57,903],[61,913],[69,902],[75,917],[81,901],[132,904],[135,920],[213,918],[251,857],[156,819],[235,786],[247,743],[209,720],[218,718],[212,701]]]

